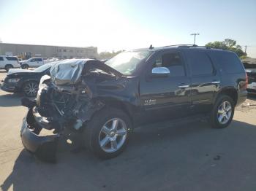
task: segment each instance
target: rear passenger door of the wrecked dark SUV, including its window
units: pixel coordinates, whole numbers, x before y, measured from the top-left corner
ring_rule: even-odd
[[[220,88],[219,72],[206,50],[185,51],[191,77],[192,112],[209,112]]]

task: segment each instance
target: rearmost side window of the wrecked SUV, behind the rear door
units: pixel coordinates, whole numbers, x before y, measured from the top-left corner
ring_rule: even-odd
[[[235,53],[214,52],[211,57],[214,63],[217,63],[219,68],[223,69],[227,74],[244,71],[244,67]]]

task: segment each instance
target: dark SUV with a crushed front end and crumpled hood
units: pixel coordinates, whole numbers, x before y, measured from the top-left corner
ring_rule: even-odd
[[[42,77],[37,99],[23,99],[29,112],[21,139],[52,160],[71,131],[98,157],[116,157],[140,125],[206,116],[213,128],[227,127],[246,100],[246,85],[234,52],[195,45],[131,50],[105,63],[61,61]],[[53,134],[39,136],[42,128]]]

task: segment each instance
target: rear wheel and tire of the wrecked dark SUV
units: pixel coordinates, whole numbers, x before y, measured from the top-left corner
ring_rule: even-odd
[[[219,95],[211,112],[210,123],[212,128],[226,128],[233,120],[235,103],[228,95]]]

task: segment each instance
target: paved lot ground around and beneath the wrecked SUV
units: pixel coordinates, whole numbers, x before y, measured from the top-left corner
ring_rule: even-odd
[[[0,80],[4,76],[0,71]],[[19,131],[25,114],[20,95],[0,90],[1,190],[256,189],[256,97],[236,109],[228,128],[194,122],[139,129],[119,157],[98,160],[67,147],[55,165],[23,149]]]

